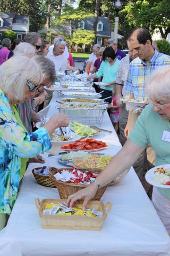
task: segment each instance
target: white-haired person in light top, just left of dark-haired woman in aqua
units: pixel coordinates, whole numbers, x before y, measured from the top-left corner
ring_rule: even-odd
[[[92,47],[92,53],[90,54],[90,57],[87,61],[86,68],[85,68],[85,72],[88,75],[94,69],[95,61],[97,60],[97,58],[100,57],[99,50],[100,50],[100,45],[99,44],[94,44],[94,46]]]

